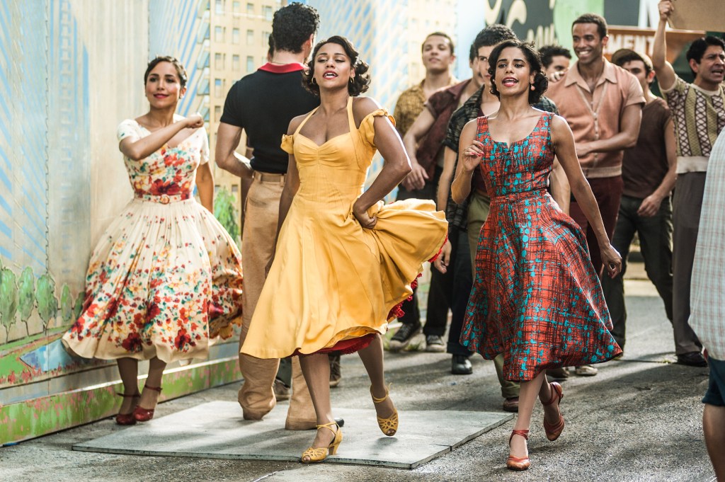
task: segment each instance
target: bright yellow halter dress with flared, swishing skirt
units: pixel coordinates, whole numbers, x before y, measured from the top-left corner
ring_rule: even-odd
[[[373,229],[352,214],[376,153],[373,121],[393,120],[384,109],[357,128],[351,97],[349,133],[321,146],[299,133],[314,112],[282,139],[282,149],[297,161],[299,190],[241,348],[258,358],[309,354],[385,333],[397,305],[413,293],[410,283],[423,262],[446,238],[445,215],[433,201],[380,201],[368,211],[378,217]]]

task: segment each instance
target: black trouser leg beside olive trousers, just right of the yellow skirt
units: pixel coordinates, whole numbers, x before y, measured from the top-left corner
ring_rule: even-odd
[[[468,307],[473,275],[471,273],[471,254],[468,250],[468,236],[465,231],[452,228],[449,232],[452,246],[448,274],[453,277],[453,291],[450,298],[451,327],[448,331],[447,352],[455,355],[471,356],[468,348],[460,344],[460,332],[463,330],[463,318]],[[437,271],[437,270],[436,270]]]

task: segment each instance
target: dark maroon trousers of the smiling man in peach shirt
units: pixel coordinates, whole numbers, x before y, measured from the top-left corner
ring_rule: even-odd
[[[607,232],[607,236],[611,239],[614,233],[614,226],[617,223],[619,200],[622,197],[622,189],[624,188],[622,176],[618,175],[612,178],[594,178],[587,180],[589,181],[589,186],[592,186],[592,193],[594,193],[594,197],[597,199],[597,204],[599,205],[599,211],[602,213],[604,229]],[[576,202],[576,199],[573,199],[573,196],[571,198],[571,206],[569,207],[569,215],[581,227],[584,235],[587,236],[589,257],[592,258],[594,270],[601,277],[602,253],[599,251],[599,241],[597,241],[594,229],[589,225],[587,216],[584,215],[584,211],[579,206],[579,203]]]

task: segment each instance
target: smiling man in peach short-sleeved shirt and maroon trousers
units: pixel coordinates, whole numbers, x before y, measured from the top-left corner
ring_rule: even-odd
[[[584,177],[592,186],[607,234],[612,238],[624,183],[624,149],[637,144],[645,96],[634,75],[604,58],[609,41],[607,21],[597,14],[583,14],[571,26],[573,50],[578,60],[547,95],[571,127]],[[576,199],[569,214],[584,230],[597,273],[602,258],[594,230]],[[577,375],[596,375],[595,367],[576,368]]]

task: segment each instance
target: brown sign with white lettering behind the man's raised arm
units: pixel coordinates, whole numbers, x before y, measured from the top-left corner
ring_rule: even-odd
[[[682,0],[681,0],[682,1]],[[724,1],[725,0],[718,0]],[[632,49],[652,57],[655,44],[655,30],[652,28],[621,27],[610,25],[609,41],[604,52],[608,59],[619,49]],[[667,30],[667,60],[674,62],[682,49],[687,47],[695,38],[705,36],[703,30]]]

